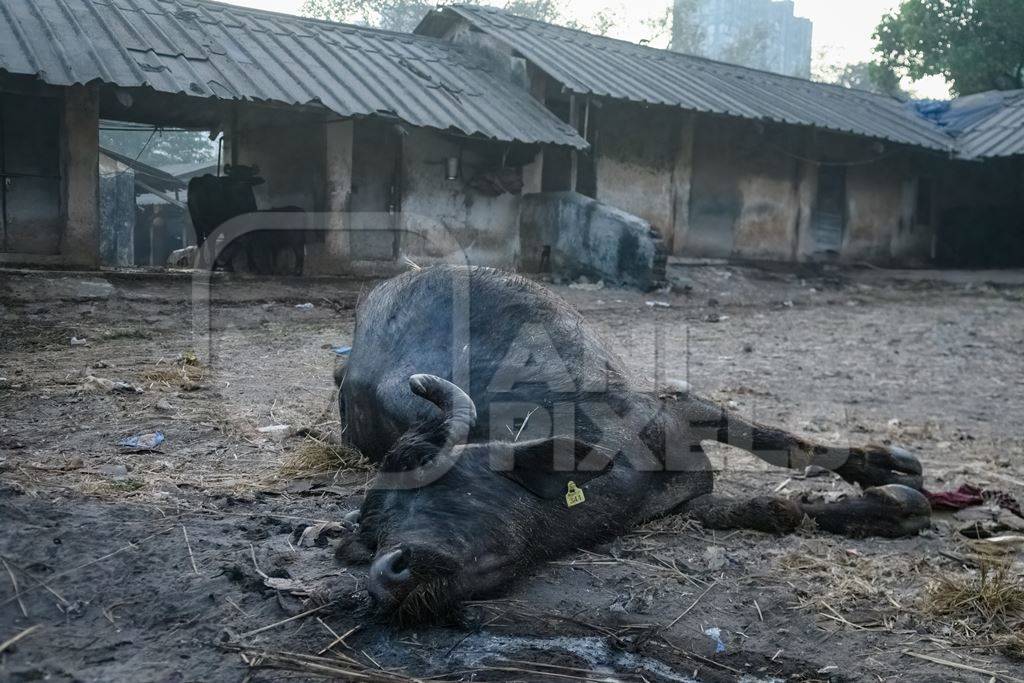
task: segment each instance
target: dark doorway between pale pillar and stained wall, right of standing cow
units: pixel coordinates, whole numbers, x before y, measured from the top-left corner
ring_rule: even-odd
[[[359,121],[352,150],[352,258],[391,261],[398,255],[401,136],[394,126]]]

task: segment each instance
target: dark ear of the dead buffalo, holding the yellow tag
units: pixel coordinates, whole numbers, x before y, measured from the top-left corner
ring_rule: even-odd
[[[512,444],[512,469],[505,476],[545,500],[565,496],[569,481],[582,486],[605,474],[611,457],[568,436]]]

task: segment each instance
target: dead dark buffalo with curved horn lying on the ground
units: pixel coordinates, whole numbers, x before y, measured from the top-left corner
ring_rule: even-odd
[[[338,555],[372,562],[372,596],[403,621],[670,513],[772,532],[805,515],[851,536],[929,524],[906,452],[812,443],[695,395],[640,390],[583,316],[518,275],[434,267],[390,280],[360,303],[352,346],[339,376],[344,433],[380,472]],[[864,495],[714,496],[708,440],[825,467]]]

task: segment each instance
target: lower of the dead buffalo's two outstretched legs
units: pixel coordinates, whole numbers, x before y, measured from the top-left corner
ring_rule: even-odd
[[[928,527],[932,513],[928,499],[901,484],[874,486],[859,498],[836,503],[709,494],[690,501],[684,511],[709,528],[749,528],[769,533],[794,531],[807,516],[818,528],[856,538],[914,536]]]

